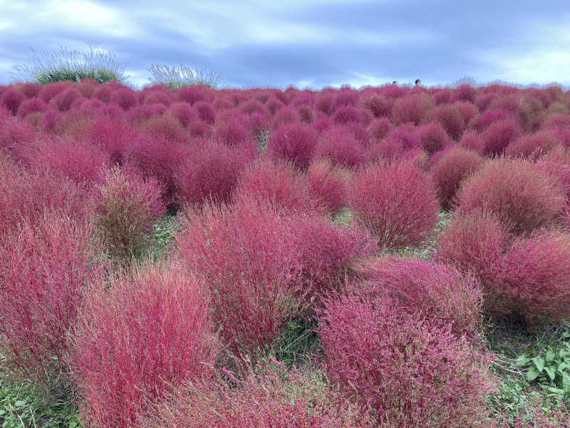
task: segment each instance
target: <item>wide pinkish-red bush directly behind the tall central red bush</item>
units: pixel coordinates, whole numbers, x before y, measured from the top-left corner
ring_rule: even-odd
[[[314,200],[309,187],[286,163],[274,163],[261,159],[244,169],[234,191],[234,200],[258,200],[271,203],[288,213],[323,209]]]

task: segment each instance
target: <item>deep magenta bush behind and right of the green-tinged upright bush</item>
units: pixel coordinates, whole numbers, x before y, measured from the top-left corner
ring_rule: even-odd
[[[247,150],[207,142],[197,148],[182,160],[174,176],[179,205],[205,200],[229,202],[239,174],[253,156],[253,147]]]

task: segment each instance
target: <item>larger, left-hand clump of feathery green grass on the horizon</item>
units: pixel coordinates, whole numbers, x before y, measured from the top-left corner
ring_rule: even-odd
[[[125,81],[123,74],[125,63],[117,61],[114,54],[89,48],[87,52],[68,51],[61,47],[59,51],[36,54],[27,63],[14,66],[11,73],[16,81],[32,81],[45,85],[57,81],[81,81],[92,78],[98,83],[106,81]]]

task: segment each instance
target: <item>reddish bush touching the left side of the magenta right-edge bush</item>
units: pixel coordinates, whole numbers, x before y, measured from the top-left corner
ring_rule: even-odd
[[[474,273],[486,291],[497,274],[508,238],[507,226],[492,213],[454,213],[437,236],[434,259]]]

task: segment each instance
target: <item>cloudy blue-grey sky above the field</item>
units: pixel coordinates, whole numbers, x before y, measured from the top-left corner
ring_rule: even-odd
[[[221,86],[355,88],[505,81],[570,86],[570,1],[0,0],[0,83],[37,53],[207,68]]]

